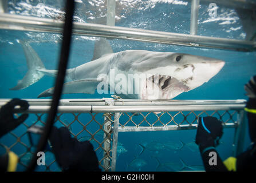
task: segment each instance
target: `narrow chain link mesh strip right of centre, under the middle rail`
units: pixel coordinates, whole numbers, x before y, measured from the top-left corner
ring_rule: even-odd
[[[237,122],[237,110],[223,111],[191,111],[191,112],[163,112],[163,113],[123,113],[119,118],[120,130],[127,127],[133,127],[139,130],[141,127],[161,128],[173,127],[182,128],[184,125],[191,126],[198,124],[198,118],[212,116],[223,122],[224,127],[235,125]],[[189,128],[187,128],[189,129]]]

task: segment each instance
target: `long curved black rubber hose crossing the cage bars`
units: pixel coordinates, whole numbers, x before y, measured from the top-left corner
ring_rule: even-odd
[[[63,39],[61,45],[60,61],[58,65],[58,74],[56,78],[56,83],[54,87],[54,93],[52,98],[52,105],[46,120],[44,127],[44,133],[42,134],[40,141],[37,145],[37,150],[33,155],[30,164],[27,166],[26,171],[33,171],[37,165],[37,153],[43,152],[50,135],[50,131],[54,124],[54,120],[57,114],[58,104],[60,102],[61,92],[65,80],[66,68],[68,66],[70,42],[72,35],[72,25],[73,25],[73,13],[74,13],[74,0],[66,0],[66,14],[65,14],[65,24],[63,31]]]

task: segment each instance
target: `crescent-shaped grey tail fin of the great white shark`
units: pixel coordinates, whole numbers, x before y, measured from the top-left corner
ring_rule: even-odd
[[[45,69],[44,64],[38,57],[36,51],[29,45],[28,42],[19,41],[21,43],[23,51],[25,53],[27,68],[29,69],[26,75],[18,81],[18,84],[10,90],[21,90],[32,85],[33,83],[40,80],[44,73],[41,73],[39,69]]]

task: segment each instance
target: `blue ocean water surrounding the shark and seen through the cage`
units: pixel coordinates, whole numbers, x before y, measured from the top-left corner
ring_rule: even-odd
[[[29,3],[27,3],[29,2]],[[175,3],[176,2],[176,3]],[[99,7],[102,5],[101,11]],[[77,1],[76,21],[78,22],[104,22],[105,4],[102,1]],[[25,6],[26,5],[26,6]],[[93,6],[94,5],[94,6]],[[56,1],[10,1],[8,11],[10,13],[28,15],[37,17],[54,18],[62,14],[62,3]],[[201,5],[199,9],[199,35],[212,37],[224,37],[244,39],[245,31],[235,10],[219,6],[218,17],[212,19],[207,13],[208,5]],[[85,13],[82,13],[85,9]],[[190,31],[190,1],[120,1],[117,7],[116,26],[135,27],[139,29],[170,31],[175,33],[189,34]],[[36,33],[27,31],[0,30],[0,98],[37,98],[38,94],[54,85],[54,78],[44,76],[40,81],[23,90],[9,90],[14,87],[18,80],[26,74],[26,58],[23,54],[21,45],[17,40],[30,41],[30,45],[36,50],[37,54],[44,62],[47,69],[56,69],[58,64],[58,54],[60,53],[61,36],[51,33]],[[94,37],[85,37],[74,35],[72,38],[71,54],[69,59],[69,68],[76,67],[82,63],[89,62],[93,56]],[[190,92],[180,94],[176,100],[236,100],[247,99],[243,85],[249,81],[251,75],[256,73],[255,52],[238,52],[216,49],[202,49],[185,46],[163,45],[158,43],[146,43],[127,41],[122,39],[109,40],[113,51],[123,50],[150,50],[150,51],[170,51],[179,53],[188,53],[222,59],[226,62],[223,69],[209,82],[191,90]],[[62,98],[103,98],[110,97],[107,94],[64,94]],[[132,114],[130,114],[132,115]],[[145,115],[145,113],[143,113]],[[45,118],[46,116],[44,115]],[[149,116],[153,121],[154,116]],[[91,116],[83,114],[79,117],[81,121],[90,121]],[[96,116],[97,120],[103,122],[102,115]],[[167,117],[166,117],[167,118]],[[73,121],[72,114],[65,114],[62,120],[68,124]],[[30,115],[25,124],[31,125],[37,117]],[[140,116],[133,116],[133,121],[141,121]],[[148,118],[147,118],[148,120]],[[125,121],[125,117],[120,123]],[[39,122],[40,123],[40,122]],[[57,126],[63,126],[57,124]],[[73,123],[72,132],[77,134],[81,131],[82,125]],[[96,132],[99,125],[88,126],[91,132]],[[20,125],[13,133],[22,136],[26,132],[26,126]],[[175,169],[166,168],[171,162],[180,163],[179,158],[187,165],[202,165],[202,160],[198,150],[184,146],[178,152],[174,150],[151,151],[145,149],[140,154],[142,148],[139,144],[150,144],[150,142],[182,141],[185,144],[194,141],[195,130],[179,131],[159,131],[159,132],[120,132],[119,142],[127,150],[120,153],[117,157],[117,171],[172,171]],[[86,138],[86,134],[78,137]],[[218,146],[220,157],[225,160],[233,152],[234,129],[224,129],[222,144]],[[1,138],[0,143],[11,147],[11,150],[17,154],[26,152],[25,146],[20,143],[15,144],[16,138],[7,134]],[[29,144],[27,136],[21,137],[21,142]],[[245,148],[249,144],[249,137],[246,136]],[[95,145],[93,143],[93,145]],[[97,144],[96,144],[97,145]],[[0,147],[2,148],[2,147]],[[95,146],[94,146],[95,148]],[[192,149],[192,150],[191,150]],[[1,152],[3,152],[3,148]],[[97,150],[99,159],[102,152]],[[24,161],[29,161],[30,156],[26,154]],[[52,162],[54,156],[48,152],[46,154],[46,164]],[[145,165],[140,168],[134,168],[133,160],[143,160]],[[163,165],[158,166],[159,163]],[[164,168],[164,165],[165,168]],[[157,167],[159,169],[157,169]],[[60,170],[57,164],[50,166],[51,170]],[[24,170],[24,166],[19,165],[18,170]],[[38,167],[38,171],[44,171],[44,167]]]

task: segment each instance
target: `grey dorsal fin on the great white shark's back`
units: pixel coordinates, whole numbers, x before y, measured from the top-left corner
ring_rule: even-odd
[[[102,57],[103,55],[109,54],[109,53],[113,53],[111,45],[109,44],[107,39],[100,38],[99,40],[95,41],[92,61],[94,59],[98,59],[98,58]]]

